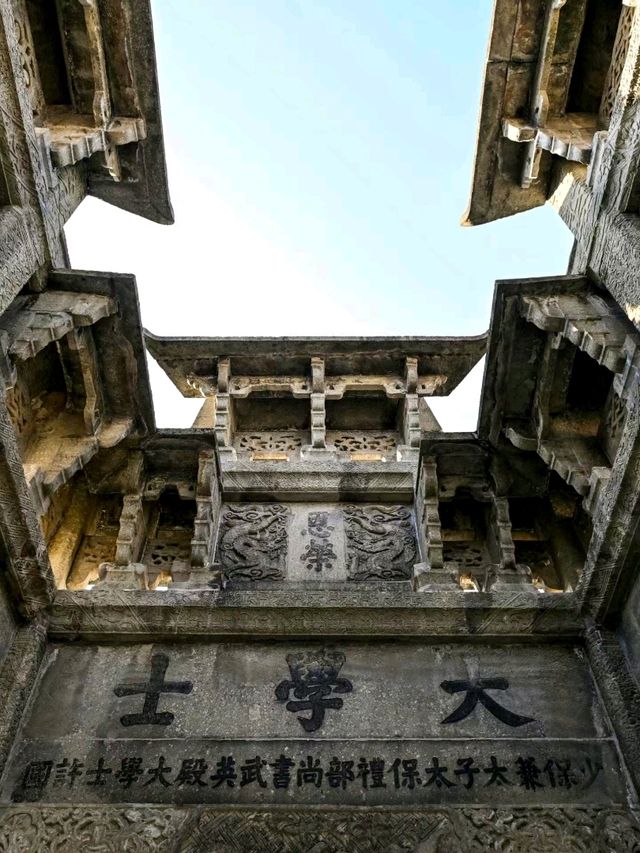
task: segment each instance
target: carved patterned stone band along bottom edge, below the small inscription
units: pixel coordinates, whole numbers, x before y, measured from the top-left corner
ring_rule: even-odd
[[[615,808],[180,809],[9,807],[0,853],[632,853]]]

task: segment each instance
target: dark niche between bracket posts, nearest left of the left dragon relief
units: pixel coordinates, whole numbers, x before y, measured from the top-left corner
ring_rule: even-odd
[[[149,586],[154,589],[171,583],[176,560],[191,561],[196,501],[194,497],[183,498],[176,486],[167,486],[148,512],[142,562],[147,567]]]

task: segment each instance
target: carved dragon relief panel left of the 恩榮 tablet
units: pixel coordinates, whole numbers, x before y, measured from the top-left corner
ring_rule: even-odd
[[[282,580],[287,558],[287,519],[282,504],[236,504],[223,510],[218,559],[238,580]]]

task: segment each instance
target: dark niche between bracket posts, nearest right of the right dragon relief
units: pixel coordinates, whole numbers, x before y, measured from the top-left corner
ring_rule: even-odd
[[[454,563],[461,575],[471,575],[483,586],[492,563],[488,541],[490,504],[475,500],[464,488],[438,507],[442,528],[443,559]]]

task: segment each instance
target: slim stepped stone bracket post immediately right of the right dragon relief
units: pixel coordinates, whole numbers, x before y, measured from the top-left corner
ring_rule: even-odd
[[[438,468],[433,457],[423,459],[416,489],[416,522],[423,561],[414,566],[413,588],[416,592],[429,592],[457,587],[453,573],[444,568]]]

